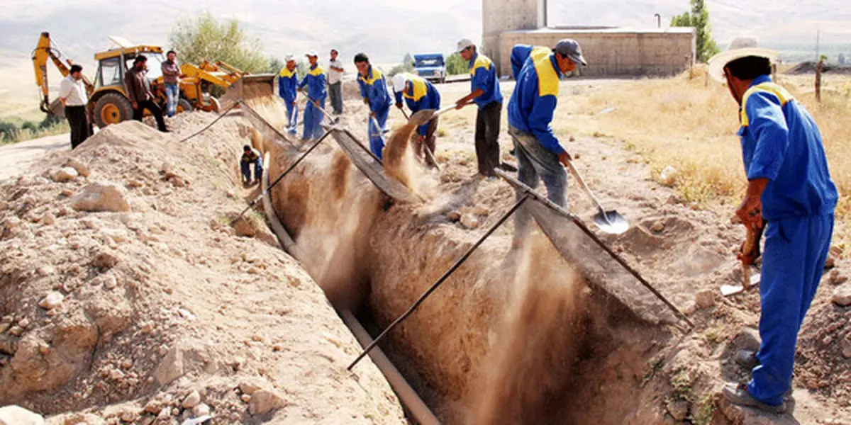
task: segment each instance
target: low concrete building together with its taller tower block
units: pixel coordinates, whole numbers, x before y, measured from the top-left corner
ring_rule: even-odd
[[[583,76],[670,76],[694,64],[694,28],[628,29],[614,26],[547,26],[546,0],[483,0],[483,53],[511,74],[518,43],[554,46],[580,42],[588,66]]]

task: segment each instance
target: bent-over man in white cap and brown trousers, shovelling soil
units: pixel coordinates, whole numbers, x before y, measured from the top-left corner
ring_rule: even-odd
[[[417,111],[440,109],[440,94],[437,93],[437,88],[423,77],[400,72],[393,76],[393,92],[396,97],[396,107],[403,110],[402,100],[404,99],[412,115]],[[417,127],[417,135],[414,139],[414,154],[431,168],[437,167],[434,151],[438,120],[436,116]]]

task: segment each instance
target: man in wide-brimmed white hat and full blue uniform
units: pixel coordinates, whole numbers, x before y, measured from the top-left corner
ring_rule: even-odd
[[[837,188],[831,180],[819,127],[785,88],[772,82],[776,53],[737,38],[710,60],[712,77],[727,82],[740,105],[742,157],[748,179],[736,215],[751,232],[765,225],[760,280],[759,350],[737,362],[751,381],[728,384],[736,405],[781,413],[791,388],[797,334],[819,286],[833,234]],[[757,244],[758,246],[758,244]],[[745,263],[756,256],[740,252]]]

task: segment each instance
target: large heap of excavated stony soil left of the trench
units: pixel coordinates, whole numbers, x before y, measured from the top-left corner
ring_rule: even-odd
[[[106,127],[0,186],[0,405],[49,423],[404,423],[257,195],[254,131],[182,114]],[[254,138],[256,140],[256,138]]]

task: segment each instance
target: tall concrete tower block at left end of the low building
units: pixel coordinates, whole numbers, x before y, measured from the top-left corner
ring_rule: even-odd
[[[546,0],[482,0],[483,53],[500,64],[500,34],[546,26]]]

